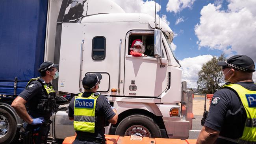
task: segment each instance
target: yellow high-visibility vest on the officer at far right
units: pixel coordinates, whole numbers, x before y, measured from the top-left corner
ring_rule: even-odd
[[[256,143],[256,91],[248,90],[238,84],[228,84],[221,88],[230,87],[234,89],[243,103],[247,119],[243,135],[239,138],[239,144],[254,144]]]

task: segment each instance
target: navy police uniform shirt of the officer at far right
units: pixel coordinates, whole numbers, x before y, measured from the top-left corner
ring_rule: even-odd
[[[254,82],[235,84],[248,90],[256,90]],[[245,109],[237,92],[233,89],[224,88],[213,95],[204,126],[220,131],[215,144],[236,144],[238,138],[243,135],[246,118]]]

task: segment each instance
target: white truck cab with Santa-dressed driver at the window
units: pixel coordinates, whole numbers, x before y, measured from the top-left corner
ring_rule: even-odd
[[[186,82],[182,85],[182,69],[170,46],[171,28],[165,22],[156,24],[147,14],[125,13],[111,0],[73,2],[50,1],[49,6],[60,7],[54,50],[59,55],[54,57],[54,63],[59,63],[59,78],[54,81],[58,91],[83,92],[84,75],[98,72],[102,74],[98,92],[107,96],[119,114],[117,124],[106,127],[106,134],[188,138],[192,93],[186,90]],[[47,41],[54,33],[54,17],[56,11],[49,13]],[[147,57],[129,54],[135,39],[142,40]],[[46,45],[48,56],[50,44]],[[67,113],[54,115],[54,131],[63,131],[63,126],[70,130],[52,137],[74,135],[72,122],[63,115]]]

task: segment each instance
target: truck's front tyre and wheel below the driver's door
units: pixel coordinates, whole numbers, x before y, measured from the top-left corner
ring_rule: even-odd
[[[117,126],[115,135],[161,138],[161,131],[152,118],[136,114],[124,118]]]

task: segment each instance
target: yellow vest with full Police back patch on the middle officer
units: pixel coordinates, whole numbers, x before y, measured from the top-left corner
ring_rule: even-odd
[[[88,98],[82,95],[83,93],[78,94],[74,100],[74,129],[94,133],[96,100],[100,94],[93,93]]]

